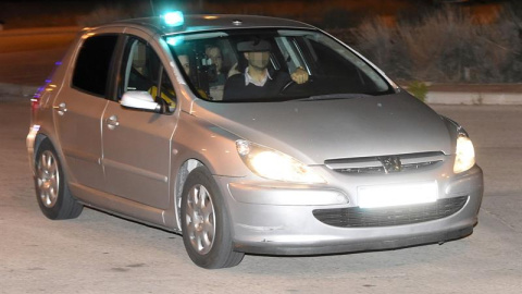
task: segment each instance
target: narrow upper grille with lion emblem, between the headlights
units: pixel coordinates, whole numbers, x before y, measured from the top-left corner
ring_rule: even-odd
[[[324,161],[324,164],[340,173],[383,174],[426,169],[443,162],[446,156],[444,152],[434,151],[395,156],[328,159]]]

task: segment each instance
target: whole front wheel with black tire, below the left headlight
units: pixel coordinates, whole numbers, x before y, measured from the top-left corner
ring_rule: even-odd
[[[188,175],[181,212],[183,243],[194,264],[219,269],[241,262],[245,254],[234,252],[224,199],[207,168],[196,168]]]

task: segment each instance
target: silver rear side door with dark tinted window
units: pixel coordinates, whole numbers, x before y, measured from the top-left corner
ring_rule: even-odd
[[[70,180],[96,189],[104,188],[101,115],[110,95],[109,76],[116,42],[114,34],[84,38],[74,70],[69,75],[71,81],[65,82],[53,101],[57,132],[72,176]]]

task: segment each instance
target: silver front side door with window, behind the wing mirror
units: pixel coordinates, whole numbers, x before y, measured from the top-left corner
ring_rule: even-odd
[[[169,207],[171,138],[176,126],[175,91],[154,49],[127,36],[115,101],[102,118],[103,167],[112,194],[156,208]],[[126,91],[148,91],[169,100],[170,113],[123,108]],[[166,97],[170,98],[166,98]]]

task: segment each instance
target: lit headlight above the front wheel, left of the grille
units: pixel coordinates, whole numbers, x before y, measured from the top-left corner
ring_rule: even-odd
[[[236,140],[236,148],[245,164],[259,176],[285,182],[326,183],[309,167],[277,150],[244,139]]]

